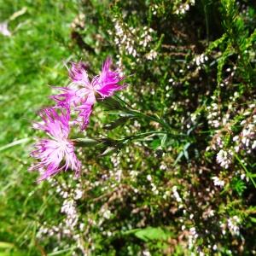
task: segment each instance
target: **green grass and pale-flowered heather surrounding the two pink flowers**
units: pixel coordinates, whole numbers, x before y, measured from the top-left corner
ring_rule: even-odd
[[[0,7],[0,256],[256,254],[254,1]],[[30,122],[49,85],[68,84],[64,62],[92,75],[108,55],[140,114],[98,104],[79,137],[108,147],[78,148],[79,179],[35,183]]]

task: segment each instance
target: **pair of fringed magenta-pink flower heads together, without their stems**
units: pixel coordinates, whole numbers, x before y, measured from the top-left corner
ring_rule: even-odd
[[[118,70],[111,70],[112,61],[108,58],[102,66],[102,72],[89,79],[86,67],[82,62],[72,63],[69,78],[72,80],[67,87],[56,87],[61,94],[51,96],[55,106],[45,108],[39,115],[40,123],[34,123],[33,128],[45,131],[49,138],[41,139],[35,144],[31,155],[38,164],[31,170],[42,173],[38,181],[54,176],[68,168],[79,175],[81,162],[74,153],[73,142],[68,139],[72,125],[79,125],[84,130],[89,124],[90,114],[97,100],[113,96],[125,85],[120,84],[124,79]],[[74,118],[72,119],[71,117]]]

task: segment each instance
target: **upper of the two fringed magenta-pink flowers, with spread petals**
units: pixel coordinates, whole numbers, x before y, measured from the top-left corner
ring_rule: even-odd
[[[73,108],[79,111],[75,122],[79,123],[81,130],[84,130],[89,123],[92,107],[96,98],[104,99],[113,96],[117,90],[122,90],[124,85],[119,82],[123,79],[118,71],[111,71],[112,61],[108,58],[102,66],[102,72],[94,77],[91,82],[82,62],[72,63],[69,69],[69,77],[72,83],[68,87],[56,87],[63,93],[51,96],[61,108]]]

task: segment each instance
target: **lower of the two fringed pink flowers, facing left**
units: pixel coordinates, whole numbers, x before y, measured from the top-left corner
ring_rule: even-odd
[[[36,150],[31,155],[39,160],[31,170],[43,171],[38,181],[54,176],[68,168],[79,175],[81,163],[74,154],[73,142],[68,140],[69,135],[69,111],[61,111],[58,114],[54,108],[46,108],[39,113],[43,121],[34,123],[33,128],[45,131],[49,138],[42,139],[35,144]]]

